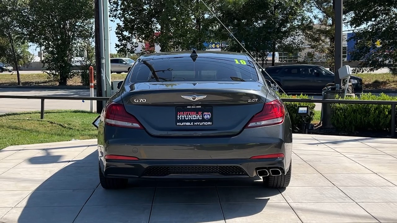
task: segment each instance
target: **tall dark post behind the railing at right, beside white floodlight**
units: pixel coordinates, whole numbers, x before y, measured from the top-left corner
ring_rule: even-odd
[[[343,43],[343,0],[335,0],[335,85],[339,90],[341,79],[338,69],[342,67],[342,43]]]

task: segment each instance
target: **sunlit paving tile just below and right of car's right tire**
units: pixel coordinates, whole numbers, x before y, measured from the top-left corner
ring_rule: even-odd
[[[280,191],[288,203],[352,202],[336,186],[291,186]]]

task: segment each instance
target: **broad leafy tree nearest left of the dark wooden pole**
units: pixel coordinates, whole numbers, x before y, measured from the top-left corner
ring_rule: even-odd
[[[30,0],[25,29],[29,40],[44,48],[42,61],[48,74],[60,85],[73,77],[71,62],[81,42],[91,38],[93,1]]]

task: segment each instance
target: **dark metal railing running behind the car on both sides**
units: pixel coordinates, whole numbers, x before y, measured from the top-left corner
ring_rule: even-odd
[[[74,97],[74,96],[25,96],[25,95],[0,95],[0,98],[15,99],[40,99],[40,119],[44,119],[44,100],[93,100],[108,101],[108,97]],[[303,103],[322,103],[322,104],[380,104],[391,106],[391,136],[395,136],[396,127],[396,105],[397,101],[378,101],[378,100],[343,100],[343,99],[311,99],[311,98],[281,98],[283,102],[303,102]]]

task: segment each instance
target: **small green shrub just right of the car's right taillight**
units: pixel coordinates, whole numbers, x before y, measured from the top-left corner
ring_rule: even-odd
[[[280,98],[304,98],[308,99],[309,97],[307,95],[287,95],[287,94],[279,94]],[[301,128],[302,126],[302,117],[300,115],[297,115],[298,107],[300,106],[309,106],[310,110],[310,116],[307,118],[306,121],[311,123],[314,119],[314,108],[316,107],[316,104],[314,103],[308,103],[308,102],[284,102],[285,107],[288,110],[289,117],[291,119],[291,124],[293,126],[293,129],[296,128]]]

